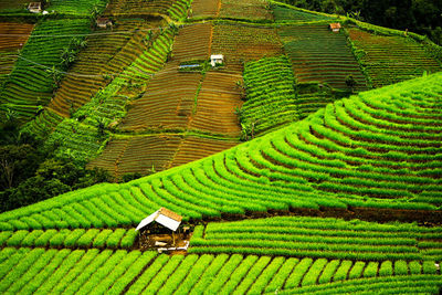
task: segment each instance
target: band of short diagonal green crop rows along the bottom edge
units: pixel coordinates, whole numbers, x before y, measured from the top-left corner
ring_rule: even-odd
[[[7,259],[8,257],[8,259]],[[397,272],[404,268],[406,272]],[[411,275],[407,275],[410,270]],[[418,271],[415,271],[418,268]],[[439,276],[432,261],[366,263],[250,255],[157,255],[124,250],[0,251],[2,293],[263,294],[366,281]],[[362,273],[364,270],[364,273]],[[393,276],[394,275],[394,276]],[[373,278],[370,278],[373,277]],[[387,281],[385,281],[387,282]]]

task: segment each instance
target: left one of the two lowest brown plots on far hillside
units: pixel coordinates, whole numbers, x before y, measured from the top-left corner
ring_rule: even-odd
[[[88,167],[104,168],[116,178],[130,172],[146,176],[167,169],[180,141],[180,136],[135,136],[128,139],[113,139],[104,152],[88,164]]]

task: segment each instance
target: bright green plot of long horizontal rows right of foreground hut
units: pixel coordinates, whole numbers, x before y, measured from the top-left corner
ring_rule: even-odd
[[[427,256],[425,251],[419,247],[420,242],[442,238],[439,228],[421,229],[407,223],[379,224],[327,218],[284,217],[209,223],[203,231],[199,226],[202,228],[198,225],[190,240],[190,253],[422,261],[438,257]],[[391,262],[382,263],[380,273],[392,275],[392,272]],[[323,280],[329,281],[330,277]]]

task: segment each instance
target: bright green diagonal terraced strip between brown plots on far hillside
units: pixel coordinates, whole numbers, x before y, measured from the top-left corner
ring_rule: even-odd
[[[162,31],[149,48],[134,57],[129,66],[75,112],[72,119],[65,118],[56,126],[48,141],[62,141],[55,150],[57,155],[74,155],[78,162],[87,162],[98,156],[110,137],[104,129],[115,128],[126,115],[126,104],[145,92],[151,75],[165,63],[172,36],[172,30]],[[150,56],[155,56],[154,62]],[[84,145],[84,141],[88,144]],[[113,169],[114,166],[109,168]]]

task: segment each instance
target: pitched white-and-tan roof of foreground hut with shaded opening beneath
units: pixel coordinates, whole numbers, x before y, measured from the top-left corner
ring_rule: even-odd
[[[166,209],[160,208],[159,210],[155,211],[138,224],[135,229],[136,231],[140,231],[141,235],[147,234],[160,234],[167,233],[168,230],[172,233],[172,240],[175,245],[175,232],[178,230],[179,225],[181,224],[182,217]],[[155,221],[155,222],[154,222]]]

